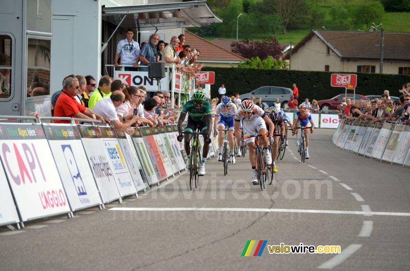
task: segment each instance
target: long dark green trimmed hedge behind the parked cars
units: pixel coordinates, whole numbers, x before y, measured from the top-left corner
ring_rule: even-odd
[[[215,84],[211,86],[211,96],[218,96],[218,88],[224,84],[228,95],[243,94],[259,86],[284,86],[292,88],[296,83],[299,89],[299,100],[309,98],[326,100],[340,93],[344,88],[330,86],[330,72],[304,72],[290,70],[258,70],[247,68],[206,67],[206,71],[215,72]],[[356,93],[361,95],[381,95],[385,89],[392,96],[400,96],[402,85],[410,82],[408,75],[356,73]],[[348,90],[353,93],[353,90]]]

